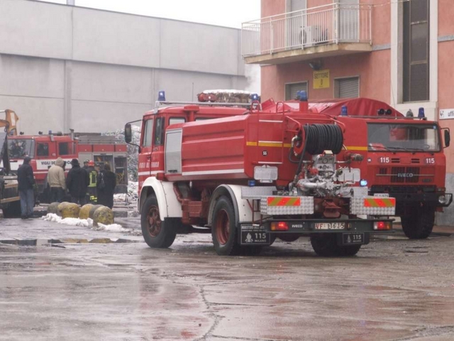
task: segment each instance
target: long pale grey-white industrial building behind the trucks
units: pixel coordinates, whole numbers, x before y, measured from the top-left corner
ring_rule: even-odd
[[[235,28],[33,0],[1,0],[0,13],[0,109],[26,134],[111,131],[159,90],[191,101],[248,85]]]

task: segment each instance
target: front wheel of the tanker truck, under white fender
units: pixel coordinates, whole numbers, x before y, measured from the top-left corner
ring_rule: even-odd
[[[149,247],[165,249],[175,241],[177,230],[170,220],[161,220],[155,195],[150,195],[145,200],[140,222],[143,239]]]

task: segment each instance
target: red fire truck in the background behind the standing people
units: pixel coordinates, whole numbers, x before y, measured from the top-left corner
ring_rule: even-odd
[[[128,188],[126,147],[126,144],[117,141],[114,136],[92,134],[75,137],[74,133],[52,134],[51,131],[48,135],[9,136],[8,140],[12,172],[18,170],[25,156],[32,158],[31,166],[38,184],[41,202],[48,202],[48,169],[58,157],[67,163],[70,163],[72,158],[78,158],[81,164],[85,160],[92,160],[95,168],[109,163],[117,177],[116,193],[126,193]],[[70,168],[68,164],[65,168],[66,173]]]

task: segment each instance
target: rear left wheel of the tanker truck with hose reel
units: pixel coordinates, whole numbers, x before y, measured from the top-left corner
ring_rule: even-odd
[[[220,256],[232,256],[240,251],[235,222],[235,210],[231,200],[225,196],[220,197],[214,206],[211,225],[214,249]]]

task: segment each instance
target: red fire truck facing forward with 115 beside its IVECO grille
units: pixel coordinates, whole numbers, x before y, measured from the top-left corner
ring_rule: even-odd
[[[270,100],[262,107],[266,112],[299,112],[296,100],[285,103]],[[369,185],[369,194],[395,197],[396,215],[401,217],[406,236],[427,238],[433,229],[435,212],[443,212],[443,207],[453,201],[453,195],[445,193],[443,148],[450,144],[449,129],[427,121],[422,108],[416,117],[404,117],[374,99],[311,102],[309,111],[336,118],[353,128],[344,135],[345,154],[360,153],[364,158],[358,168]]]

